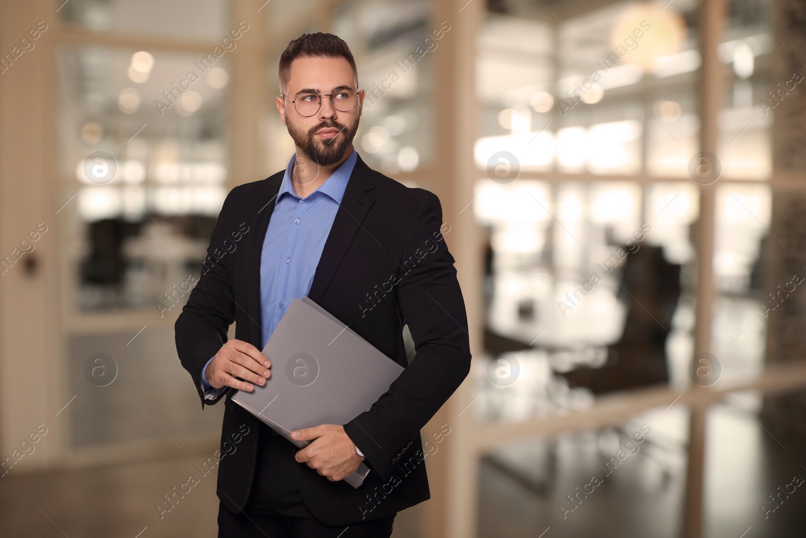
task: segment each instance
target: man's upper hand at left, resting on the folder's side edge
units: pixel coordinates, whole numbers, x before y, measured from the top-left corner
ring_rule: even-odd
[[[258,348],[243,340],[228,340],[207,366],[205,377],[214,389],[231,386],[238,390],[255,390],[251,383],[264,385],[272,375],[272,363]],[[235,379],[240,377],[243,381]],[[251,382],[251,383],[250,383]]]

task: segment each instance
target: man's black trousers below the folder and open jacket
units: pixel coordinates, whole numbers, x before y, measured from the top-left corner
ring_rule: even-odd
[[[218,505],[218,538],[388,538],[395,515],[350,525],[326,525],[308,510],[293,465],[299,448],[260,424],[255,479],[243,512]],[[284,461],[287,465],[277,465]],[[291,462],[290,465],[289,461]],[[274,465],[271,465],[273,462]]]

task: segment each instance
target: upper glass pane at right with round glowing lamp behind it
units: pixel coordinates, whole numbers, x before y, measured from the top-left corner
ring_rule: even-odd
[[[489,14],[477,42],[476,164],[687,177],[699,132],[697,9],[619,2],[562,23],[545,10]]]

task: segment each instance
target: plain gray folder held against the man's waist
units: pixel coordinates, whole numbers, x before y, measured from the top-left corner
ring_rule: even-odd
[[[272,375],[252,392],[232,400],[286,439],[320,424],[346,424],[368,411],[403,371],[310,298],[293,299],[269,337],[263,354]],[[380,445],[379,445],[380,446]],[[344,481],[357,488],[369,469],[361,463]]]

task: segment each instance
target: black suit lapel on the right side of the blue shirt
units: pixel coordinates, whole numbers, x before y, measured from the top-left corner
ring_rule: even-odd
[[[327,286],[330,286],[344,253],[347,252],[355,233],[361,228],[364,217],[375,202],[375,198],[369,194],[375,187],[372,169],[364,164],[360,156],[357,157],[339,211],[336,212],[333,226],[330,227],[330,233],[325,241],[325,248],[322,249],[322,257],[319,258],[314,273],[314,282],[310,286],[308,297],[314,302],[319,302]],[[368,232],[363,230],[362,233]]]

